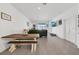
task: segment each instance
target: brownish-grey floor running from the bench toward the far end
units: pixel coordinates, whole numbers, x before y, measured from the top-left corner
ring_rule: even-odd
[[[76,46],[64,39],[56,36],[48,36],[48,38],[39,38],[37,51],[30,52],[30,47],[22,46],[17,48],[12,54],[6,50],[0,55],[78,55],[79,49]]]

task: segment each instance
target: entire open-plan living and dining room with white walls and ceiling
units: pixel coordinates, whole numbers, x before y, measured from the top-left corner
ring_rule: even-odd
[[[78,55],[78,6],[0,3],[0,54]]]

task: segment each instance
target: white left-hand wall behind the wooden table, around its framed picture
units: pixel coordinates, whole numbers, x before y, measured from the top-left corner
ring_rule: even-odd
[[[31,22],[11,4],[0,4],[0,15],[1,12],[11,15],[11,21],[3,20],[0,17],[0,37],[8,34],[22,33],[24,28],[29,28],[32,25]],[[26,22],[30,22],[29,27]],[[8,47],[6,43],[7,41],[0,38],[0,52],[4,51]]]

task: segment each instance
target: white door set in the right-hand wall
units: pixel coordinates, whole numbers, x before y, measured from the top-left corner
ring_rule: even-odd
[[[76,42],[75,20],[73,18],[64,20],[64,36],[66,40],[73,43]]]

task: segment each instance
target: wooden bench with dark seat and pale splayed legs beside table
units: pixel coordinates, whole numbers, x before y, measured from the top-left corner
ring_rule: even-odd
[[[16,50],[16,45],[31,45],[31,52],[33,52],[36,51],[37,40],[34,41],[34,40],[17,39],[8,42],[8,44],[11,44],[11,47],[9,49],[11,53]]]

